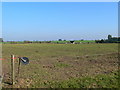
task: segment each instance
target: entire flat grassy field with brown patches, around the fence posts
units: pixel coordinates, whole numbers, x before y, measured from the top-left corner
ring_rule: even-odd
[[[118,44],[3,44],[5,88],[118,88]],[[10,56],[28,57],[16,84],[10,82]]]

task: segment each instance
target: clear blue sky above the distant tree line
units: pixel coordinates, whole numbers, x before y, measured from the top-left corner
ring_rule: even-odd
[[[4,2],[4,40],[95,40],[118,36],[117,2]]]

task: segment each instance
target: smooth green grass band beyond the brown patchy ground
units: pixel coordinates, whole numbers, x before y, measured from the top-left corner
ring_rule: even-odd
[[[3,44],[3,55],[82,56],[118,51],[118,44]],[[50,53],[51,52],[51,53]]]

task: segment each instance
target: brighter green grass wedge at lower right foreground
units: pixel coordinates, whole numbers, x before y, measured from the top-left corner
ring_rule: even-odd
[[[120,88],[118,72],[101,74],[94,77],[71,78],[62,82],[49,82],[51,88]]]

